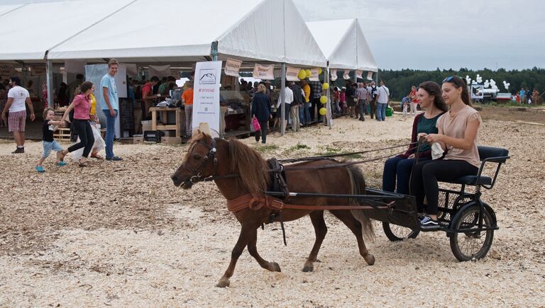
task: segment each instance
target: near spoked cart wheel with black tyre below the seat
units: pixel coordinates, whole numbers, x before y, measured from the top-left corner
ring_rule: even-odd
[[[477,229],[479,223],[479,207],[468,207],[460,215],[456,215],[453,229]],[[485,208],[483,213],[483,228],[492,228],[493,219]],[[494,238],[494,230],[480,232],[458,232],[451,235],[451,250],[458,261],[479,260],[484,258]]]

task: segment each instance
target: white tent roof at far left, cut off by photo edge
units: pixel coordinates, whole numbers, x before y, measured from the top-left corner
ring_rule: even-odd
[[[1,16],[0,60],[39,60],[60,42],[74,37],[133,0],[58,1],[26,4]],[[7,7],[7,6],[6,6]],[[105,9],[108,8],[108,9]],[[4,10],[4,6],[0,7]]]

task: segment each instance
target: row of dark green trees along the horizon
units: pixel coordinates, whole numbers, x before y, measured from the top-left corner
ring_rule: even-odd
[[[539,93],[545,91],[545,69],[534,67],[533,69],[511,70],[497,69],[492,71],[491,69],[471,70],[461,68],[459,70],[453,69],[436,69],[434,71],[421,71],[417,69],[402,69],[398,71],[394,70],[382,70],[378,71],[378,79],[384,80],[388,89],[390,89],[390,97],[400,100],[411,91],[411,86],[418,86],[423,81],[435,81],[441,84],[441,81],[448,76],[458,75],[463,79],[467,75],[473,80],[480,74],[485,79],[494,79],[501,92],[512,93],[519,91],[520,89],[528,89],[530,91],[537,90]],[[506,90],[503,86],[503,81],[507,81],[511,85]]]

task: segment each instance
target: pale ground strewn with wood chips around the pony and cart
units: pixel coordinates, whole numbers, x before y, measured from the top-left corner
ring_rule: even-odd
[[[279,224],[258,232],[261,255],[282,273],[263,270],[245,251],[223,289],[214,285],[229,263],[238,222],[214,183],[172,185],[169,175],[186,146],[119,144],[122,162],[57,168],[51,158],[38,174],[40,143],[12,155],[13,143],[4,140],[0,306],[543,307],[545,127],[520,122],[524,115],[511,121],[485,110],[483,118],[480,144],[507,147],[512,156],[483,196],[500,226],[483,260],[458,263],[439,232],[390,242],[377,224],[375,241],[367,242],[376,263],[367,266],[351,232],[328,214],[314,273],[301,271],[314,242],[303,218],[286,224],[288,246]],[[407,143],[411,125],[400,115],[386,122],[338,119],[331,130],[270,135],[268,147],[244,142],[267,158],[309,156]],[[361,168],[379,188],[382,162]]]

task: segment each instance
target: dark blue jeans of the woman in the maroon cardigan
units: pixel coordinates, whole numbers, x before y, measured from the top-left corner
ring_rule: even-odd
[[[429,158],[419,157],[418,161],[429,161]],[[402,156],[387,159],[382,171],[382,190],[409,195],[409,180],[413,164],[414,159],[405,159]],[[395,190],[396,178],[397,190]]]

